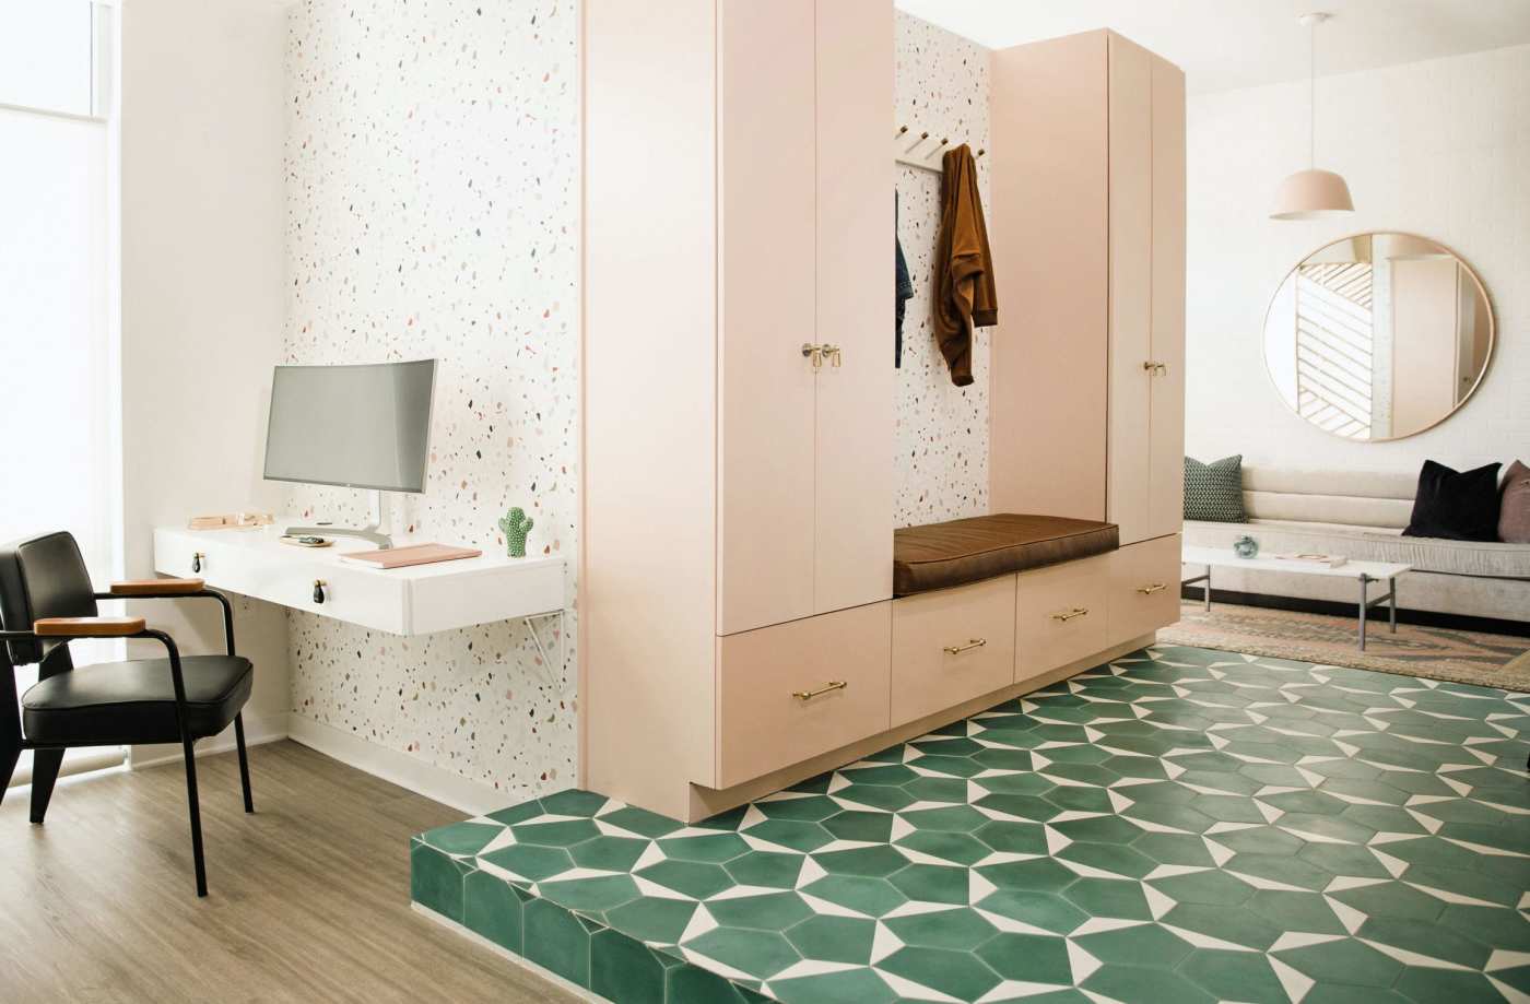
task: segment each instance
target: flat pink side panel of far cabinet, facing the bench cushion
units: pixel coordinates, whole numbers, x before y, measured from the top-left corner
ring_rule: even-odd
[[[1106,32],[993,54],[990,510],[1105,519]]]

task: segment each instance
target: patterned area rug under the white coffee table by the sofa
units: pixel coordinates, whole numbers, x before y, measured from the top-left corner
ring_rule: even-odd
[[[1158,632],[1166,644],[1193,644],[1222,652],[1351,666],[1383,673],[1424,676],[1530,693],[1530,638],[1480,631],[1398,624],[1386,629],[1385,614],[1366,629],[1365,652],[1357,644],[1354,617],[1325,617],[1258,606],[1213,603],[1207,612],[1186,600],[1180,623]]]

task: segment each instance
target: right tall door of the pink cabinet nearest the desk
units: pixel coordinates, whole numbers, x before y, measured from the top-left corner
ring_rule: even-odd
[[[825,612],[892,595],[892,5],[819,0],[817,49],[817,341],[838,349],[819,370],[814,612]]]

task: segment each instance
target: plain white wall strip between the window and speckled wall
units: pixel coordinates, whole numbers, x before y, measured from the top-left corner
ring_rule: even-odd
[[[153,526],[280,504],[260,458],[283,321],[286,14],[124,0],[121,17],[124,568],[147,577]],[[286,617],[234,598],[256,663],[246,729],[285,732]],[[138,606],[182,652],[222,650],[216,603]]]

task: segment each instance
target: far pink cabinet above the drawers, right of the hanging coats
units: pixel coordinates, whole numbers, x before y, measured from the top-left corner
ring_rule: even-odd
[[[1184,75],[1092,31],[994,52],[991,103],[990,505],[1178,533]]]

